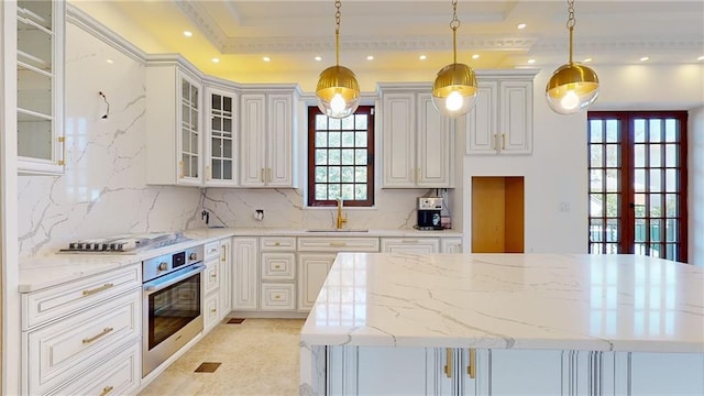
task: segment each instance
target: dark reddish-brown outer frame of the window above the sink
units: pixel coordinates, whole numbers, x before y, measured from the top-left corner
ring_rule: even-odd
[[[374,187],[374,154],[375,154],[375,136],[374,136],[374,106],[360,106],[354,114],[366,114],[367,116],[367,162],[366,162],[366,190],[367,190],[367,199],[365,200],[344,200],[345,207],[361,207],[361,208],[371,208],[374,206],[375,201],[375,187]],[[307,148],[307,206],[310,208],[320,208],[320,207],[336,207],[338,205],[334,199],[326,199],[318,200],[316,199],[316,116],[322,116],[322,112],[317,106],[308,107],[308,148]]]

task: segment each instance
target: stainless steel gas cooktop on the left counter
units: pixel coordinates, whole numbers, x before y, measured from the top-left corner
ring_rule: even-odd
[[[92,238],[70,242],[62,253],[134,254],[188,241],[183,232],[147,232]]]

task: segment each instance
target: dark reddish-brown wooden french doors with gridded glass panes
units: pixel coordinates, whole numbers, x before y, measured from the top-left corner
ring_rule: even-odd
[[[686,112],[587,120],[590,253],[686,262]]]

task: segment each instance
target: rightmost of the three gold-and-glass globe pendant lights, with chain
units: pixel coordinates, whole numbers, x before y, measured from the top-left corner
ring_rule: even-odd
[[[570,30],[570,63],[560,66],[546,87],[548,106],[560,114],[572,114],[590,107],[598,96],[598,77],[591,68],[572,62],[574,0],[568,0]]]

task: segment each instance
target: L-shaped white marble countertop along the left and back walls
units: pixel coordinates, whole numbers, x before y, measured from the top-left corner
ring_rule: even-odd
[[[169,246],[135,252],[134,254],[86,254],[56,253],[41,257],[23,260],[20,263],[20,293],[31,293],[65,282],[75,280],[125,265],[135,265],[143,260],[167,254],[173,251],[187,249],[197,244],[208,243],[228,237],[462,237],[461,232],[452,230],[418,231],[418,230],[367,230],[367,231],[334,231],[273,228],[206,228],[184,231],[189,240]]]

